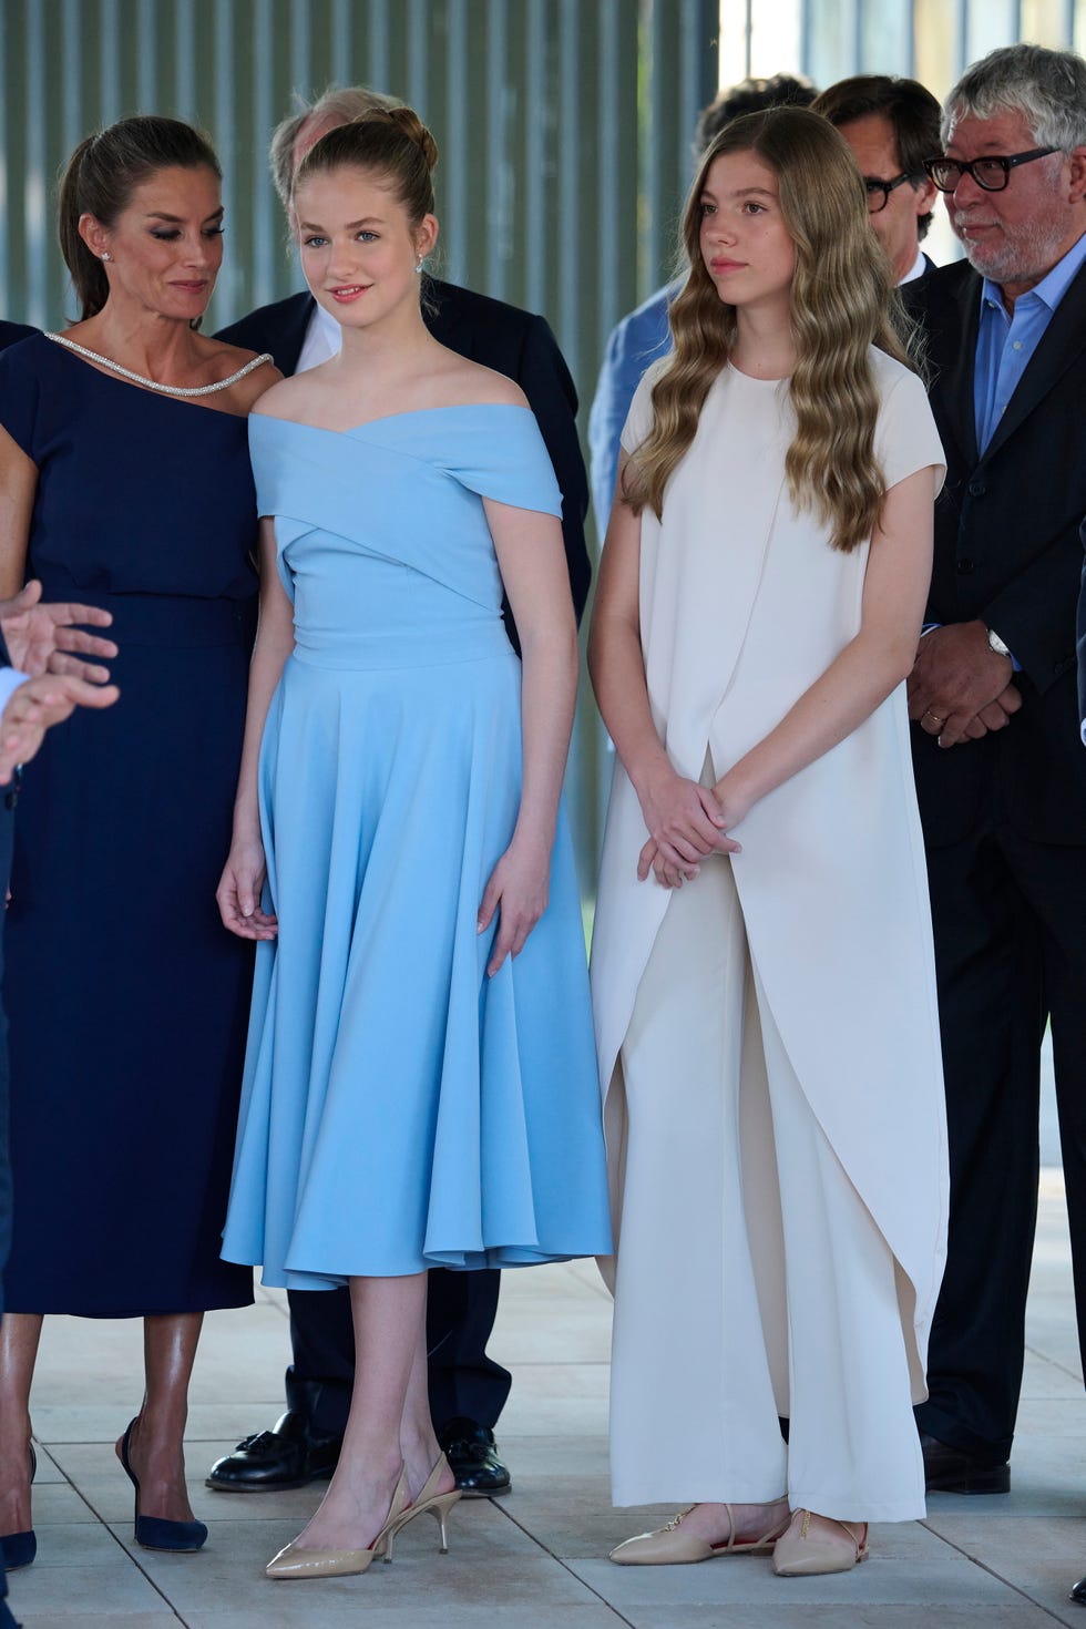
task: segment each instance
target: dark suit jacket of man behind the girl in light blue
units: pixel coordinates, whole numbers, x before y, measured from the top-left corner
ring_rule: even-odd
[[[580,622],[591,578],[585,546],[588,477],[576,437],[576,389],[558,344],[544,318],[501,300],[435,279],[427,279],[423,293],[433,308],[423,306],[423,316],[435,339],[471,362],[505,373],[528,396],[562,489],[562,536]],[[313,305],[309,293],[290,295],[225,327],[220,339],[249,350],[270,350],[280,371],[290,375],[298,367]],[[516,645],[508,606],[506,626]]]

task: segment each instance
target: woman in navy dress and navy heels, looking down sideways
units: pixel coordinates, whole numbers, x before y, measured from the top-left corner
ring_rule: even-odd
[[[33,573],[47,599],[109,609],[122,699],[28,769],[11,873],[0,1535],[23,1562],[42,1315],[145,1319],[147,1394],[117,1447],[135,1536],[197,1549],[182,1435],[200,1319],[252,1298],[218,1258],[251,961],[215,883],[257,586],[246,415],[277,375],[192,327],[223,249],[218,163],[189,125],[125,119],[83,142],[60,241],[83,319],[0,358],[0,595]]]

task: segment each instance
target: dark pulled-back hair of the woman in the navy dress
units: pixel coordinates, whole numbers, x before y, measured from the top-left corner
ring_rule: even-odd
[[[103,226],[112,226],[135,189],[160,169],[210,169],[220,181],[223,178],[207,137],[181,119],[156,114],[120,119],[88,135],[72,153],[60,178],[57,231],[83,321],[106,305],[109,282],[101,261],[80,236],[80,217],[93,215]]]

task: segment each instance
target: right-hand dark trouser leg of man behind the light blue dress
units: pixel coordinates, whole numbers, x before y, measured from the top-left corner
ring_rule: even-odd
[[[430,1272],[427,1347],[430,1352],[430,1414],[438,1435],[458,1416],[493,1430],[513,1377],[487,1357],[487,1341],[498,1315],[501,1274]]]

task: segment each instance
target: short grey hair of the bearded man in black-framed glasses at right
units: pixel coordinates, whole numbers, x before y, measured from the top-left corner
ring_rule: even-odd
[[[959,119],[990,119],[1001,109],[1026,117],[1039,147],[1070,153],[1086,145],[1086,60],[1075,50],[1000,46],[966,68],[943,103],[943,142]]]

